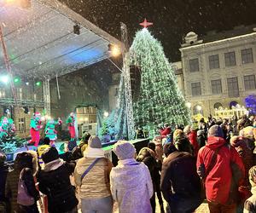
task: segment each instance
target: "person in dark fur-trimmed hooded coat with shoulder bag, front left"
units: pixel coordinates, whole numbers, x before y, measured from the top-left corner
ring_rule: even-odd
[[[38,190],[35,187],[34,176],[38,170],[37,153],[27,151],[18,153],[15,158],[14,170],[10,171],[7,175],[5,185],[5,197],[9,199],[10,210],[9,212],[26,212],[38,213],[37,200],[39,199]],[[21,181],[24,185],[21,185]],[[26,200],[29,205],[20,202],[19,198],[24,198],[21,194],[20,187],[26,187]],[[21,197],[20,197],[21,196]],[[29,199],[29,200],[28,200]],[[23,200],[24,201],[24,200]]]

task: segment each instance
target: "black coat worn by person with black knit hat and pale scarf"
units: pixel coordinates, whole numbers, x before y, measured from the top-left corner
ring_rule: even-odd
[[[64,163],[56,170],[38,172],[39,190],[48,197],[49,213],[67,212],[79,203],[69,179],[74,168],[74,163]]]

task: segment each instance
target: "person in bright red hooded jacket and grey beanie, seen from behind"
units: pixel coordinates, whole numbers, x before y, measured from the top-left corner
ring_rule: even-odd
[[[239,154],[234,147],[228,145],[223,136],[221,127],[213,125],[208,131],[207,145],[199,150],[196,163],[199,176],[205,180],[211,213],[236,212],[234,192],[238,191],[245,176]],[[236,173],[232,168],[236,168]],[[232,181],[235,176],[236,184]]]

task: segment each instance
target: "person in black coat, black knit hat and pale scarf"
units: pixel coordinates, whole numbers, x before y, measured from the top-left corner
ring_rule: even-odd
[[[48,199],[49,213],[75,213],[77,204],[75,191],[70,182],[75,163],[59,158],[55,147],[49,147],[42,154],[44,170],[38,171],[39,190]]]

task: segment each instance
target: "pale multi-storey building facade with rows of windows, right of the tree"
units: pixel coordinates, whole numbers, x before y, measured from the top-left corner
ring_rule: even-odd
[[[256,28],[240,27],[199,39],[189,32],[182,44],[183,94],[192,114],[205,117],[219,107],[245,106],[256,94]]]

